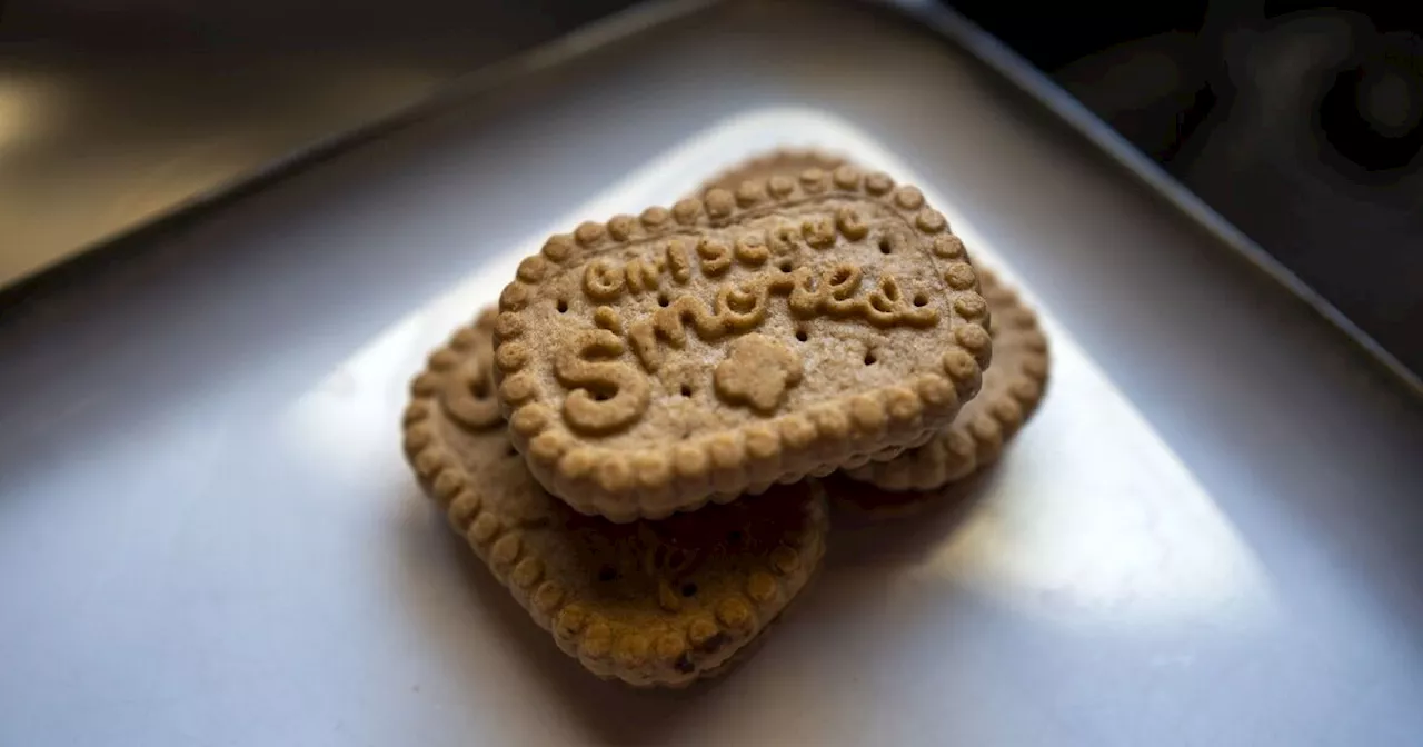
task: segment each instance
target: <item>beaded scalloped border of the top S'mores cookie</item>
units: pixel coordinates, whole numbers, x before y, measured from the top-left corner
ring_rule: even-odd
[[[561,266],[629,242],[726,225],[751,211],[837,195],[875,199],[898,213],[924,236],[926,255],[946,290],[965,300],[961,306],[986,316],[986,302],[978,295],[978,276],[963,242],[949,232],[942,213],[925,205],[922,192],[896,186],[881,172],[810,168],[798,178],[744,182],[736,192],[712,189],[703,199],[682,199],[670,209],[647,208],[636,218],[619,215],[608,223],[585,222],[572,235],[556,235],[541,253],[524,259],[515,280],[499,296],[494,327],[499,401],[509,420],[511,440],[534,477],[585,514],[619,522],[665,518],[699,508],[707,499],[726,501],[776,482],[864,464],[871,455],[892,452],[894,447],[921,445],[951,421],[961,404],[978,393],[982,370],[992,356],[989,334],[979,319],[958,307],[951,320],[956,322],[953,344],[942,353],[935,371],[921,373],[904,386],[820,403],[807,413],[673,445],[623,451],[576,443],[559,425],[555,411],[541,401],[532,378],[521,376],[531,359],[519,339],[525,332],[522,312],[538,296],[541,280]],[[946,265],[939,267],[939,262]]]

